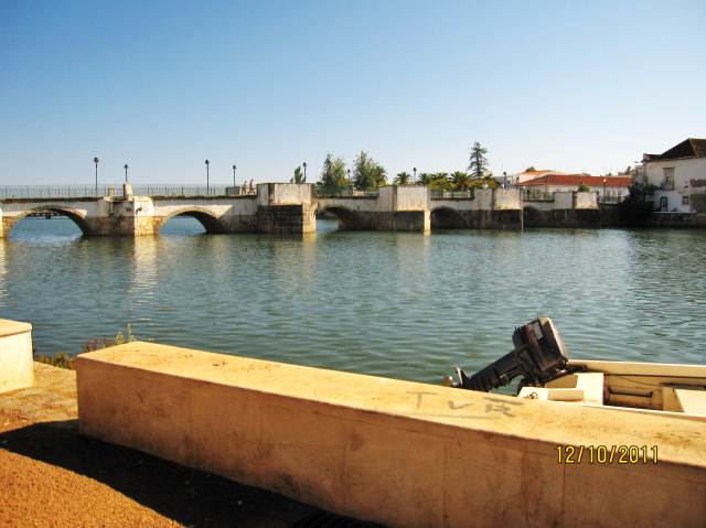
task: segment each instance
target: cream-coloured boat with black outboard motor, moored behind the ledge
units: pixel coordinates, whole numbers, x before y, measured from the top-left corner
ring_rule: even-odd
[[[521,377],[518,398],[706,421],[704,365],[570,359],[549,317],[515,328],[513,344],[471,376],[457,367],[443,385],[489,392]]]

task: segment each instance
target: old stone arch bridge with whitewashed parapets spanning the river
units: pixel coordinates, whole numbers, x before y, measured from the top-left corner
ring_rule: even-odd
[[[527,219],[542,225],[535,222],[535,208],[545,215],[557,207],[590,208],[582,194],[592,195],[568,193],[570,197],[523,204],[522,194],[515,188],[480,188],[472,196],[431,197],[428,187],[400,185],[381,187],[375,195],[317,196],[312,184],[261,183],[257,194],[242,196],[138,196],[130,185],[125,185],[120,196],[1,200],[0,236],[8,237],[20,219],[40,212],[65,215],[90,236],[157,235],[174,216],[192,216],[206,233],[214,234],[313,233],[318,213],[338,217],[341,229],[521,229]],[[523,216],[523,206],[533,209],[525,208]]]

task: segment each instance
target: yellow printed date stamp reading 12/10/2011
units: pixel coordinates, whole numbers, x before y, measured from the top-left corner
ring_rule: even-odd
[[[656,464],[656,445],[557,445],[559,464]]]

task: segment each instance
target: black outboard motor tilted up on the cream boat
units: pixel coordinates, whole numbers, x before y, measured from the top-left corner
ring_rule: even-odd
[[[539,386],[552,379],[580,370],[568,367],[568,354],[559,332],[549,317],[536,319],[515,328],[515,349],[472,376],[457,367],[458,381],[447,378],[445,385],[489,392],[522,376],[520,387]]]

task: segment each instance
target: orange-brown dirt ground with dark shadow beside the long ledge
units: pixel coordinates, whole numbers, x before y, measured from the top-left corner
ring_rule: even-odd
[[[372,526],[82,437],[73,373],[41,368],[0,395],[0,527]]]

